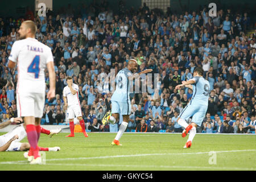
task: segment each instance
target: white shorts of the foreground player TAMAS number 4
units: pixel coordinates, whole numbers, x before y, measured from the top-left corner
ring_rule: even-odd
[[[35,118],[42,118],[44,101],[45,93],[17,93],[18,117],[34,116]]]

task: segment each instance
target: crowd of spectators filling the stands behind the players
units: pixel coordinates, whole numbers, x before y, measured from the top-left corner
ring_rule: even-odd
[[[101,123],[111,110],[113,88],[110,81],[100,78],[109,76],[110,69],[116,75],[133,58],[138,72],[153,69],[152,73],[159,73],[159,82],[156,87],[148,85],[147,93],[130,93],[132,112],[127,131],[182,132],[176,120],[191,100],[192,90],[176,90],[175,86],[192,78],[193,70],[201,67],[210,88],[207,115],[197,132],[255,132],[256,30],[246,36],[255,23],[250,14],[219,9],[216,17],[210,17],[205,8],[173,14],[170,9],[167,13],[150,10],[146,4],[138,10],[126,9],[122,1],[118,6],[119,12],[113,13],[104,0],[77,10],[71,5],[57,13],[47,10],[46,17],[34,16],[30,10],[19,19],[0,17],[2,121],[17,114],[18,72],[10,70],[7,63],[11,46],[19,40],[20,23],[31,19],[38,27],[36,39],[52,49],[55,60],[56,98],[46,100],[42,124],[68,123],[63,89],[66,77],[72,76],[79,85],[86,129],[118,131],[118,124]],[[47,92],[47,72],[46,82]]]

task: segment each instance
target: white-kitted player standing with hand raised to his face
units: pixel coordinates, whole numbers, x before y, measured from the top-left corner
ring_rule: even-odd
[[[88,134],[85,131],[85,124],[84,119],[82,119],[82,110],[79,101],[79,86],[73,84],[73,78],[67,77],[67,84],[63,89],[63,100],[64,100],[64,110],[67,109],[67,116],[69,119],[69,128],[71,134],[67,135],[66,137],[75,137],[74,130],[74,118],[79,120],[80,125],[82,127],[82,133],[84,133],[84,137],[88,137]]]

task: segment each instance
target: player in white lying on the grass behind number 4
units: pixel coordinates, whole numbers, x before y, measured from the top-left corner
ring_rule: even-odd
[[[11,123],[21,123],[23,122],[22,118],[11,118],[9,121],[0,123],[0,129],[5,128],[6,126],[9,126]],[[49,137],[52,137],[54,134],[60,133],[61,129],[56,130],[46,130],[41,127],[41,133],[49,135]],[[30,144],[29,143],[20,143],[22,139],[27,137],[26,133],[26,126],[22,123],[16,127],[14,127],[13,130],[9,131],[5,135],[0,136],[0,152],[2,151],[27,151],[30,150]],[[40,151],[59,151],[60,147],[39,147]]]

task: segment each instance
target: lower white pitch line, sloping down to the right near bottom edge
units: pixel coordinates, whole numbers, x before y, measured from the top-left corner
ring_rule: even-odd
[[[6,163],[6,164],[24,164],[22,163]],[[27,163],[28,164],[28,163]],[[137,167],[137,168],[183,168],[183,169],[223,169],[223,170],[246,170],[246,171],[255,171],[256,168],[238,168],[238,167],[208,167],[208,166],[151,166],[151,165],[127,165],[127,164],[55,164],[55,163],[47,163],[44,165],[50,166],[84,166],[84,167]]]

